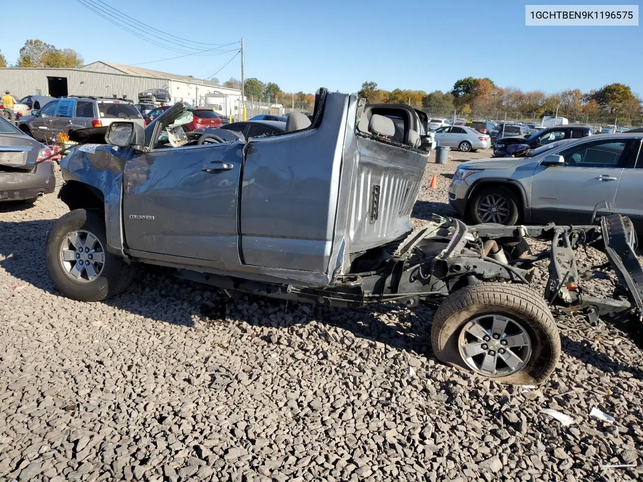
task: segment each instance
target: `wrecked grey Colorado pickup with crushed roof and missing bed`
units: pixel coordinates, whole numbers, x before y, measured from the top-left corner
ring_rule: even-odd
[[[90,136],[61,161],[71,212],[51,228],[46,260],[63,294],[107,299],[150,263],[228,293],[337,307],[428,303],[441,361],[516,384],[538,384],[556,366],[551,305],[640,316],[627,218],[525,227],[435,215],[412,229],[427,163],[413,109],[321,89],[312,121],[293,113],[286,132],[256,138],[223,129],[188,138],[190,115],[177,103],[145,130],[114,122],[100,132],[107,144]],[[551,248],[533,254],[526,238]],[[624,296],[585,296],[583,280],[608,275],[577,267],[572,250],[583,244],[606,251]],[[545,258],[543,299],[529,281]]]

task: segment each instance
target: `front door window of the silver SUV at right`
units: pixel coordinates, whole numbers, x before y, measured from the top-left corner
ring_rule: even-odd
[[[635,146],[638,146],[636,141],[607,139],[577,145],[563,150],[560,155],[569,167],[628,168],[636,159]]]

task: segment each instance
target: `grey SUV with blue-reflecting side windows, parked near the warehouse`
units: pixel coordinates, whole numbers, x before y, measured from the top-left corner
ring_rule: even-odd
[[[19,129],[34,139],[51,143],[59,132],[86,127],[104,127],[116,120],[129,120],[145,127],[132,102],[109,97],[63,97],[52,100],[18,121]]]

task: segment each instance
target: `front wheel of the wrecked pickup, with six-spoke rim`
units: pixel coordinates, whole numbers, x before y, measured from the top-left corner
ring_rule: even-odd
[[[85,233],[90,233],[96,238],[96,242],[90,242],[85,238],[84,244],[92,245],[88,253],[83,253],[82,256],[96,256],[102,253],[102,263],[92,261],[91,267],[96,274],[95,278],[91,279],[89,271],[80,267],[80,270],[74,271],[78,268],[78,261],[64,261],[62,257],[65,255],[80,256],[75,253],[73,249],[65,249],[64,244],[67,243],[69,247],[70,238],[68,235],[79,231],[80,239],[86,236]],[[93,239],[93,238],[92,238]],[[107,240],[105,237],[105,221],[100,216],[99,211],[93,210],[74,210],[66,215],[60,217],[49,232],[47,238],[46,248],[46,261],[47,268],[51,279],[56,287],[68,298],[77,299],[78,301],[102,301],[111,298],[116,294],[122,293],[132,282],[134,270],[131,264],[128,264],[120,256],[107,252]],[[89,249],[89,247],[87,247]],[[82,262],[82,260],[80,260]],[[89,261],[86,260],[86,263]],[[70,269],[71,267],[71,269]],[[74,268],[75,267],[75,268]],[[69,272],[80,271],[81,276],[75,279]]]

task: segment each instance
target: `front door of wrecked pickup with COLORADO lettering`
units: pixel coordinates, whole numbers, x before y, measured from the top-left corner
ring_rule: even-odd
[[[125,165],[127,246],[239,265],[240,143],[159,149]],[[204,172],[204,168],[214,168]],[[217,170],[218,169],[218,170]]]

